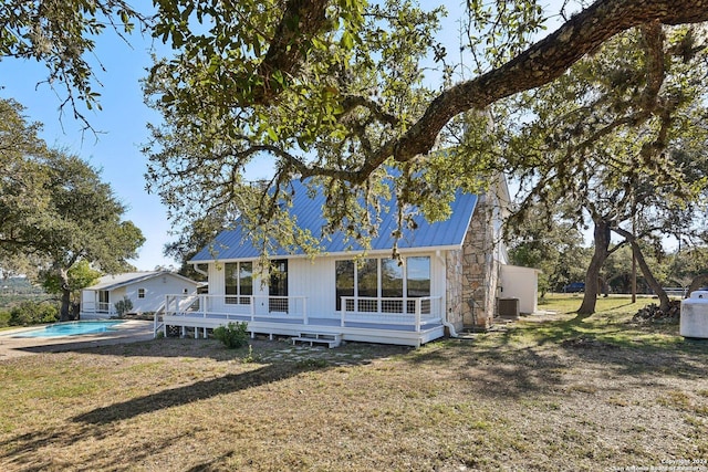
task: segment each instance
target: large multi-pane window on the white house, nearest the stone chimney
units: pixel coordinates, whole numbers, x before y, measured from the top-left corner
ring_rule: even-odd
[[[335,262],[336,311],[342,310],[342,296],[356,296],[360,312],[400,313],[403,300],[430,296],[430,258],[405,258],[403,262],[386,259],[365,259]],[[368,300],[375,298],[375,300]],[[386,300],[391,298],[391,300]],[[352,310],[350,303],[346,306]],[[429,303],[424,312],[429,310]],[[415,311],[409,301],[406,312]]]

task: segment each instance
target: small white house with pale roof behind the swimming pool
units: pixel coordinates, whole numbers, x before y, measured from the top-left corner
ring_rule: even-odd
[[[127,272],[104,275],[81,293],[81,317],[107,317],[117,315],[115,303],[128,298],[131,313],[157,312],[167,295],[197,293],[199,282],[168,271]]]

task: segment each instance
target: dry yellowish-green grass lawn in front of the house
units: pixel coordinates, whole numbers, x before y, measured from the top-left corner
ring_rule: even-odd
[[[419,349],[167,338],[2,360],[0,470],[708,470],[708,342],[628,323],[652,300],[580,301]]]

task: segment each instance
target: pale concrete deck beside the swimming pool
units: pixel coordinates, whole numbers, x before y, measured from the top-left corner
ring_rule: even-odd
[[[131,319],[115,329],[96,334],[59,337],[14,337],[15,334],[37,329],[37,326],[0,332],[0,361],[38,353],[59,353],[111,344],[153,339],[153,322]]]

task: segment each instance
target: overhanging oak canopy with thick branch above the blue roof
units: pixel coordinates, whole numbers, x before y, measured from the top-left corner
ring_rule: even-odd
[[[275,203],[293,178],[325,188],[325,233],[351,221],[376,231],[382,179],[396,183],[402,225],[408,211],[445,218],[450,187],[479,190],[490,170],[480,154],[436,153],[455,144],[460,117],[464,133],[493,146],[482,112],[490,104],[558,78],[631,28],[708,20],[701,1],[598,0],[529,45],[548,14],[540,3],[468,2],[466,46],[479,73],[461,80],[436,39],[442,9],[347,0],[157,7],[155,33],[175,55],[155,64],[146,86],[164,117],[146,146],[152,188],[175,221],[240,214],[253,231],[277,221],[271,229],[283,237]],[[425,81],[430,66],[442,70],[435,86]],[[254,159],[273,162],[267,185],[243,178]]]

